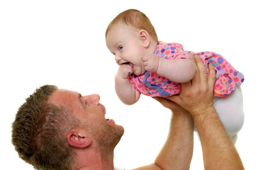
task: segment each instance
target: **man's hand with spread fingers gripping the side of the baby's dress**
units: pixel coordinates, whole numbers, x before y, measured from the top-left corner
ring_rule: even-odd
[[[195,55],[196,75],[187,82],[181,84],[181,93],[171,96],[168,99],[176,102],[181,107],[189,111],[192,116],[195,116],[199,110],[213,106],[215,84],[215,68],[209,64],[209,76],[207,76],[206,68],[202,60]]]

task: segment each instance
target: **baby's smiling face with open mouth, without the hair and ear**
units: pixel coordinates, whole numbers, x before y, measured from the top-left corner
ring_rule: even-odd
[[[115,55],[118,65],[129,64],[135,75],[145,72],[141,58],[146,54],[146,50],[136,29],[125,24],[116,24],[106,36],[106,45]]]

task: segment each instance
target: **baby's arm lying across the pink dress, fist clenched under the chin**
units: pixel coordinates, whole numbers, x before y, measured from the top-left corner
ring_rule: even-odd
[[[159,58],[156,54],[148,54],[142,58],[142,61],[146,70],[157,72],[178,83],[190,81],[196,73],[193,61],[187,58],[168,60]]]

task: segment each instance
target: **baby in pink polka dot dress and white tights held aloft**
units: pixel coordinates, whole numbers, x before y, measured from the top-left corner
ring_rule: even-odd
[[[179,94],[180,83],[190,81],[195,75],[190,54],[199,56],[206,68],[211,62],[216,70],[215,108],[231,140],[236,142],[244,121],[240,89],[244,76],[221,55],[184,51],[179,43],[158,41],[149,18],[135,9],[115,17],[106,29],[105,38],[107,48],[119,65],[116,93],[128,105],[136,103],[141,93],[151,97]]]

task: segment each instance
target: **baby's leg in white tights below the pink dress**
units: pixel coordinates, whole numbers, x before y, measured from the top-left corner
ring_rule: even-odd
[[[244,122],[241,87],[236,85],[235,91],[227,97],[215,97],[214,106],[227,134],[235,144],[237,133],[241,130]]]

